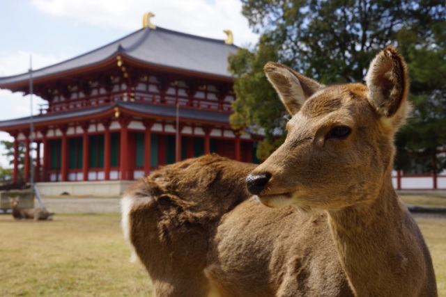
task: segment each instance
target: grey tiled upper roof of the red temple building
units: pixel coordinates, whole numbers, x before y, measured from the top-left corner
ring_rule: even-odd
[[[231,77],[227,70],[227,58],[237,49],[235,45],[226,45],[224,40],[203,38],[160,27],[144,28],[81,56],[34,70],[33,79],[91,67],[117,55],[148,65],[217,77]],[[28,80],[28,72],[0,77],[0,88]]]

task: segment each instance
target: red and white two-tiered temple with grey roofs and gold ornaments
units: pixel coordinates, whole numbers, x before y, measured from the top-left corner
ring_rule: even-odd
[[[118,195],[158,166],[212,152],[257,161],[254,136],[229,125],[235,94],[227,58],[238,49],[232,33],[202,38],[155,27],[149,17],[124,38],[34,70],[32,89],[29,72],[0,78],[0,88],[31,89],[47,101],[32,128],[31,118],[0,121],[15,140],[13,182],[20,142],[25,182],[37,144],[34,179],[44,195]]]

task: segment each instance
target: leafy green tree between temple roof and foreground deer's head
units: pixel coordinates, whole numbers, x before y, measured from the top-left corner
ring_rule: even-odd
[[[444,28],[446,17],[442,0],[242,3],[243,15],[261,38],[253,49],[240,49],[229,58],[237,95],[231,123],[236,129],[263,128],[266,138],[259,145],[260,158],[279,145],[276,134],[285,131],[285,111],[263,75],[266,61],[279,61],[322,83],[361,81],[371,59],[387,45],[403,54],[406,47],[414,55],[420,48],[431,51],[423,45],[432,40],[434,29]],[[410,67],[416,68],[417,59],[413,60]]]

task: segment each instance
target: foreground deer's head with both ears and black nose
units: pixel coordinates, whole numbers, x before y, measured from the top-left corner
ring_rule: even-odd
[[[374,58],[366,84],[323,86],[278,63],[265,72],[292,118],[284,144],[247,177],[249,192],[270,207],[334,210],[391,186],[393,138],[410,110],[395,49]]]

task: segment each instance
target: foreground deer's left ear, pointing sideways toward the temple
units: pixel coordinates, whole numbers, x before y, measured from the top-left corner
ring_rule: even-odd
[[[305,100],[323,88],[320,83],[279,63],[269,62],[264,70],[268,81],[291,115],[298,113]]]

